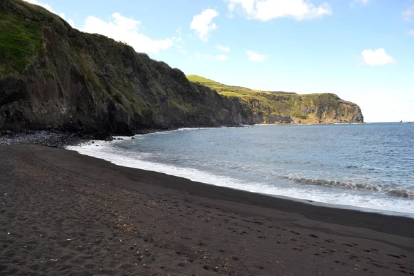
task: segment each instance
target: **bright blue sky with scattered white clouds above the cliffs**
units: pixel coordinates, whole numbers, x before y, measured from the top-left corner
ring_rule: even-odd
[[[331,92],[414,121],[414,0],[26,0],[221,83]]]

